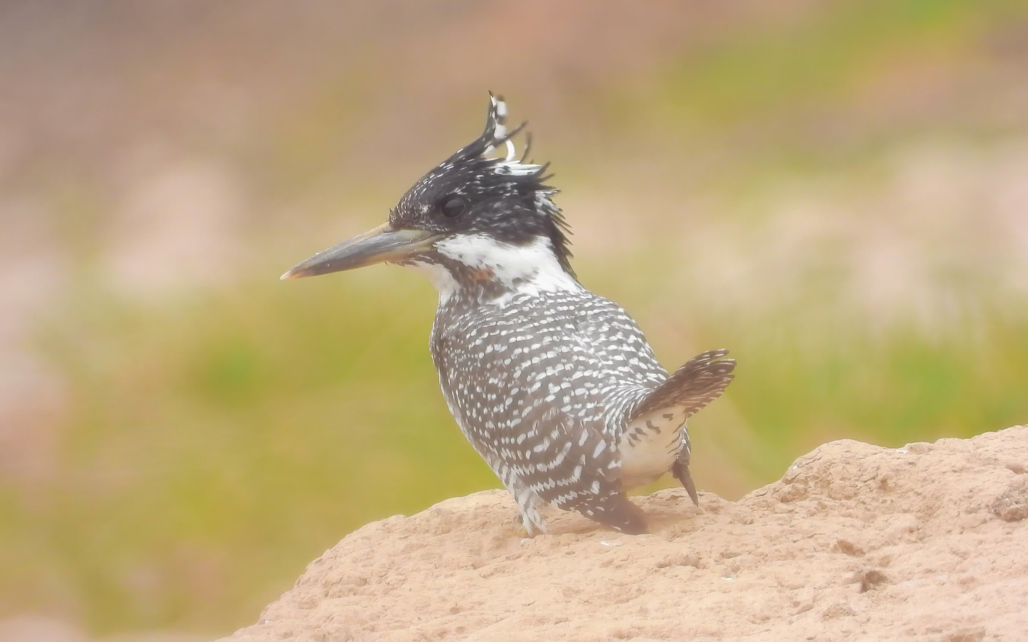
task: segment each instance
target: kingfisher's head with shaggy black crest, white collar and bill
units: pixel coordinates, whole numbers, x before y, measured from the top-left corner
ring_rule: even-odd
[[[426,271],[443,297],[522,287],[573,289],[568,229],[544,181],[547,165],[518,157],[507,104],[490,95],[485,130],[411,187],[389,221],[282,275],[298,278],[374,263]],[[503,156],[495,156],[498,151]]]

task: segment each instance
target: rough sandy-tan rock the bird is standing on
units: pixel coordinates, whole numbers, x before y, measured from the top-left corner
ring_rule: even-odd
[[[652,534],[504,492],[368,524],[232,640],[1028,637],[1028,426],[887,449],[840,441],[737,502],[635,501]]]

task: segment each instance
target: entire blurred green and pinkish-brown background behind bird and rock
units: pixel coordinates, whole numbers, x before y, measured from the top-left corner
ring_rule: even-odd
[[[428,282],[278,280],[486,89],[583,282],[668,368],[738,358],[701,489],[1028,421],[1025,2],[9,0],[0,77],[0,619],[228,633],[360,525],[499,486]]]

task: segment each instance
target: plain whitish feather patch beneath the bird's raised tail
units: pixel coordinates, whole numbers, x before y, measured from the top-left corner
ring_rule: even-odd
[[[621,438],[621,485],[625,490],[653,482],[671,469],[682,451],[685,413],[663,409],[628,424]]]

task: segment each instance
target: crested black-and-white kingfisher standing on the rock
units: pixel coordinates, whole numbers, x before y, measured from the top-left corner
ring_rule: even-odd
[[[670,471],[699,505],[687,420],[733,380],[724,349],[671,374],[635,320],[586,290],[549,163],[518,155],[507,103],[489,92],[481,136],[418,180],[389,220],[283,279],[375,263],[426,274],[439,300],[430,352],[462,432],[513,496],[524,531],[547,505],[648,532],[632,488]]]

